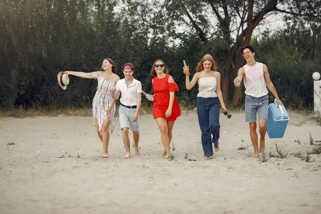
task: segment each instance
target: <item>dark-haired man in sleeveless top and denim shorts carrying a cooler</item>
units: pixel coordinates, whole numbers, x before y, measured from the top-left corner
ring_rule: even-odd
[[[277,105],[282,105],[278,98],[273,83],[270,80],[268,68],[263,63],[254,59],[255,50],[252,46],[246,45],[240,49],[246,60],[246,65],[238,70],[234,79],[234,86],[239,87],[244,79],[245,86],[245,122],[249,123],[250,136],[254,147],[254,157],[265,150],[266,121],[268,117],[269,91],[274,95]],[[256,113],[258,114],[258,128],[260,134],[259,148],[256,133]]]

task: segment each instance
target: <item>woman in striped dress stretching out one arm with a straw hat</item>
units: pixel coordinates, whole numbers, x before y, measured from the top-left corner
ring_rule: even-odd
[[[64,73],[87,79],[97,79],[98,85],[92,101],[92,114],[98,137],[103,142],[103,158],[108,158],[109,129],[111,133],[114,130],[115,106],[113,106],[110,115],[107,114],[106,110],[112,101],[110,91],[115,89],[115,84],[120,79],[116,74],[115,63],[108,58],[104,59],[99,71],[90,73],[65,71]]]

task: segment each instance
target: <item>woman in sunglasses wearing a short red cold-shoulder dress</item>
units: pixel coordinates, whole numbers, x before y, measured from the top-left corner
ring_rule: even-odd
[[[179,88],[174,82],[163,60],[156,60],[150,72],[155,76],[152,80],[153,95],[147,96],[149,100],[154,99],[153,114],[159,127],[160,138],[164,145],[162,158],[168,159],[171,155],[169,145],[172,140],[172,130],[175,120],[180,116],[180,108],[175,96]]]

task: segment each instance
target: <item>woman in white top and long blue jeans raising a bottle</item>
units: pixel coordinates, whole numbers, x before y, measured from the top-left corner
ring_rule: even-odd
[[[196,73],[189,81],[189,68],[184,67],[186,74],[186,89],[190,90],[198,83],[197,116],[200,131],[202,132],[202,147],[206,157],[212,157],[213,146],[215,152],[219,150],[219,104],[224,112],[227,109],[224,104],[222,91],[220,90],[220,74],[215,71],[215,61],[210,54],[203,56],[196,67]],[[212,135],[212,136],[211,136]]]

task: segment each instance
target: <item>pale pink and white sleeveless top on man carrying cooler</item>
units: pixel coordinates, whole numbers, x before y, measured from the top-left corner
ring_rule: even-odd
[[[244,81],[245,94],[254,96],[254,98],[267,95],[269,91],[264,79],[263,63],[256,62],[253,66],[246,64],[243,68],[246,76],[246,81]]]

